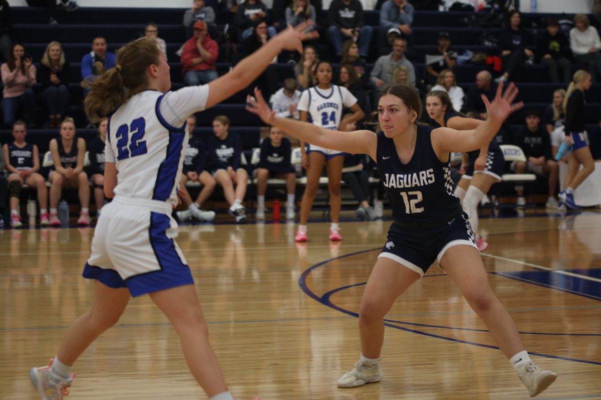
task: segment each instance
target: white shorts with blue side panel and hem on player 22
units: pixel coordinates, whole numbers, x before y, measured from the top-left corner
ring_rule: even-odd
[[[171,210],[165,201],[119,196],[102,207],[84,278],[126,287],[133,297],[194,284]]]

